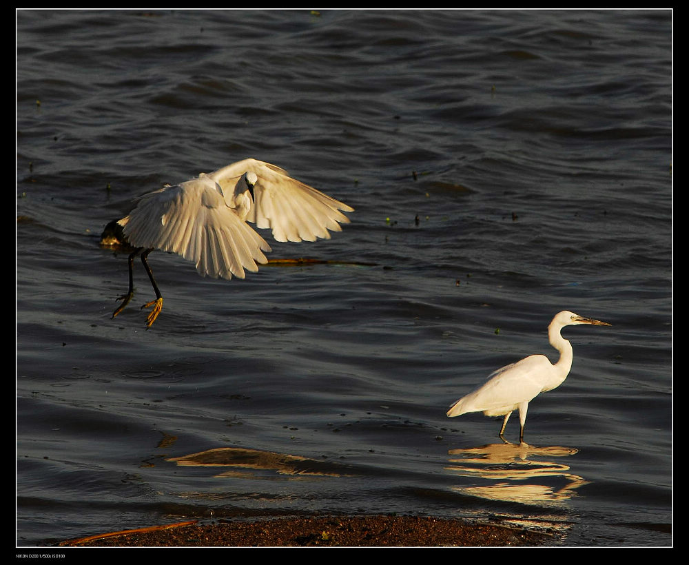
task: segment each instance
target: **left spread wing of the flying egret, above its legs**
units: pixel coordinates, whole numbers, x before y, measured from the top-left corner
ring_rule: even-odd
[[[270,251],[203,174],[145,194],[119,223],[132,245],[180,254],[214,278],[244,278],[244,269],[257,271],[256,262],[267,263],[263,251]]]

